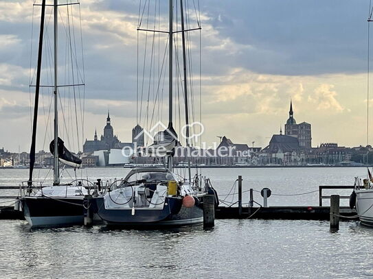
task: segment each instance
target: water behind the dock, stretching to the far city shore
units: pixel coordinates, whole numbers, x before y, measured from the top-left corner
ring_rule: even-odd
[[[80,169],[74,173],[72,169],[67,169],[63,173],[63,182],[71,182],[77,178],[88,178],[95,182],[97,178],[101,178],[103,182],[106,180],[115,180],[124,178],[129,169],[123,168],[87,168]],[[187,176],[186,169],[176,169],[177,173],[183,177]],[[307,195],[289,195],[316,191],[319,185],[353,185],[354,177],[365,177],[366,168],[260,168],[260,169],[202,169],[203,175],[209,177],[212,185],[218,191],[221,199],[225,199],[228,204],[236,202],[237,184],[234,181],[238,175],[242,175],[242,191],[243,202],[249,201],[250,188],[260,191],[264,187],[271,189],[273,195],[269,198],[269,206],[317,206],[319,204],[319,193],[310,193]],[[0,187],[5,185],[16,186],[21,181],[28,178],[27,169],[0,169]],[[52,182],[52,171],[48,169],[36,169],[34,171],[34,180]],[[233,189],[232,189],[232,186]],[[225,198],[225,194],[234,193]],[[246,191],[246,192],[245,192]],[[2,191],[8,195],[16,195],[16,192]],[[324,193],[335,193],[339,195],[350,195],[348,191],[325,191]],[[276,195],[280,194],[280,195]],[[262,203],[260,193],[254,192],[256,202]],[[328,201],[325,201],[328,204]],[[341,205],[347,206],[348,201],[342,200]]]

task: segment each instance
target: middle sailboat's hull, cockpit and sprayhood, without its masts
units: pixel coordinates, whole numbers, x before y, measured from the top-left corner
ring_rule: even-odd
[[[164,167],[142,167],[93,197],[91,206],[109,226],[186,226],[203,223],[205,194]]]

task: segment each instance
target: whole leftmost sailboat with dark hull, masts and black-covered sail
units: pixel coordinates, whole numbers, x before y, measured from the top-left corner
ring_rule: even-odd
[[[65,4],[66,5],[66,4]],[[69,3],[67,3],[69,5]],[[34,103],[34,119],[32,126],[32,144],[30,149],[30,176],[23,183],[19,202],[27,223],[31,226],[67,226],[82,224],[84,222],[84,195],[88,194],[82,180],[77,183],[61,184],[59,162],[72,167],[79,167],[82,160],[71,154],[58,137],[58,64],[57,64],[57,36],[58,36],[58,0],[54,0],[54,139],[49,149],[54,156],[54,182],[53,185],[44,186],[41,182],[33,180],[36,149],[36,127],[38,123],[38,101],[41,88],[41,66],[43,55],[43,37],[45,22],[45,0],[41,3],[41,25],[38,41],[38,61],[36,69],[36,90]]]

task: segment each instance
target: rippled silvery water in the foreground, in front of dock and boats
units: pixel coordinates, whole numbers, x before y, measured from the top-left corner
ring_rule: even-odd
[[[224,222],[223,222],[224,221]],[[373,230],[328,221],[222,220],[214,230],[31,229],[1,221],[3,278],[354,278],[372,276]],[[359,247],[357,249],[357,247]],[[346,260],[348,259],[348,260]],[[5,269],[5,267],[7,267]]]

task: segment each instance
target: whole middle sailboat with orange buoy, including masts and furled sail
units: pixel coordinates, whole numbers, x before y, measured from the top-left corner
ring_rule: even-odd
[[[188,179],[180,178],[173,171],[174,148],[178,144],[172,115],[172,46],[174,40],[173,5],[169,1],[169,72],[168,72],[168,126],[158,132],[154,143],[146,147],[157,153],[161,149],[165,154],[165,167],[135,167],[122,180],[113,182],[104,195],[93,197],[93,213],[108,226],[125,227],[163,227],[187,226],[203,223],[203,197],[208,191],[214,191],[210,184],[201,186],[192,180],[190,158],[188,157]],[[183,85],[185,104],[186,144],[189,142],[189,116],[187,74],[185,59],[185,30],[183,20],[183,0],[180,0],[181,34],[183,38]],[[160,154],[159,154],[160,155]]]

